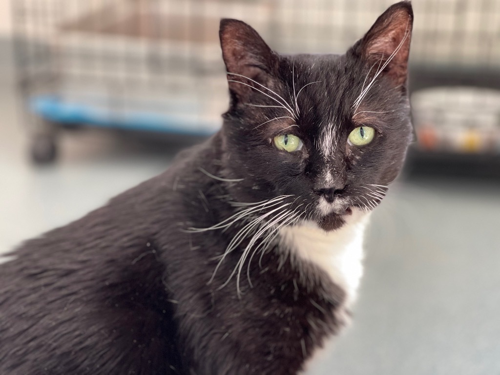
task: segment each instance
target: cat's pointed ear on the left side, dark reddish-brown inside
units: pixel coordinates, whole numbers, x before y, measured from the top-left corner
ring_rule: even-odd
[[[277,68],[277,55],[257,31],[237,19],[222,19],[219,37],[229,90],[245,101],[255,91],[252,87],[261,89],[252,81],[269,84]]]

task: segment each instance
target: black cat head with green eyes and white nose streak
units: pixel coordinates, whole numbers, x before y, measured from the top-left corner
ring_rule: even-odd
[[[281,55],[249,25],[220,22],[230,104],[221,130],[234,200],[279,201],[338,228],[369,211],[412,139],[407,61],[413,14],[390,6],[345,54]]]

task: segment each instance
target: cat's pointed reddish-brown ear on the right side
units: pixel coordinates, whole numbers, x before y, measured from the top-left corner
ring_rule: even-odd
[[[359,40],[359,52],[373,73],[383,66],[383,74],[395,85],[406,83],[413,10],[409,1],[390,6]],[[377,69],[378,67],[378,69]]]

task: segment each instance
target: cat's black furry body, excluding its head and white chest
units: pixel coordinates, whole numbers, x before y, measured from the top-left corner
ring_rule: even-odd
[[[198,169],[217,159],[218,138],[181,152],[164,174],[82,219],[25,242],[17,260],[1,266],[1,373],[293,373],[336,332],[344,293],[332,282],[306,290],[290,259],[278,271],[287,249],[266,252],[265,271],[255,259],[253,287],[241,282],[238,297],[234,278],[217,290],[233,261],[208,284],[231,233],[177,234],[232,214],[218,181]],[[186,200],[189,186],[204,197]],[[310,277],[317,277],[312,269]]]

